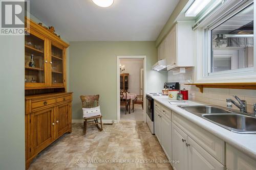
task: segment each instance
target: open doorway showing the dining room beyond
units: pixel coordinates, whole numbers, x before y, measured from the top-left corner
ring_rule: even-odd
[[[117,56],[117,121],[145,122],[146,56]]]

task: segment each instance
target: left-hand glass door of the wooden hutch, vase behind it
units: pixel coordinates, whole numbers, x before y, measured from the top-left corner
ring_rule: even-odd
[[[46,86],[45,38],[25,36],[25,88]]]

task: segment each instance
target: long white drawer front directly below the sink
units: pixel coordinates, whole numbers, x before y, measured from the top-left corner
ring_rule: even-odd
[[[173,112],[173,123],[195,140],[204,150],[225,165],[225,142],[186,118]]]

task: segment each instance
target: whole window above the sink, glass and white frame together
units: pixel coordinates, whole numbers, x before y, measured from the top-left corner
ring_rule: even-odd
[[[195,83],[256,80],[253,0],[225,0],[196,21]]]

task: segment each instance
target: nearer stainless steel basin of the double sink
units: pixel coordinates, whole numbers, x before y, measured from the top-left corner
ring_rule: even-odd
[[[202,116],[232,132],[256,133],[256,117],[242,114],[203,114]]]

